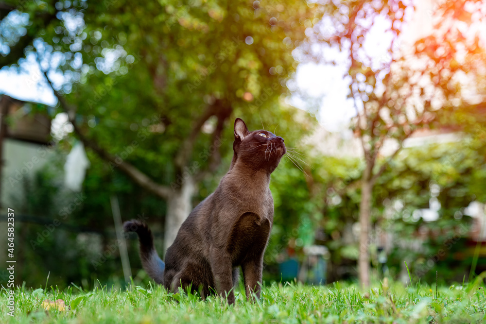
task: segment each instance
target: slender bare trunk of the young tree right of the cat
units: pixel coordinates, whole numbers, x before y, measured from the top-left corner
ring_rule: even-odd
[[[368,173],[368,172],[364,172]],[[371,214],[371,193],[373,183],[369,176],[364,174],[361,185],[360,203],[360,245],[358,257],[358,273],[363,289],[369,287],[369,227]]]

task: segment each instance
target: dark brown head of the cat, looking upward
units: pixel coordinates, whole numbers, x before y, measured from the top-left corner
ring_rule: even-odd
[[[242,119],[235,120],[234,134],[234,155],[230,169],[238,163],[246,168],[264,169],[271,173],[287,152],[282,137],[265,130],[250,132]]]

